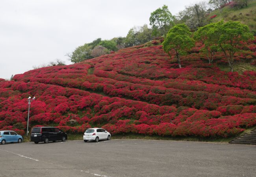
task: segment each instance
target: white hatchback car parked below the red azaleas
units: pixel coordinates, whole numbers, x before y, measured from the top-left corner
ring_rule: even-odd
[[[101,128],[87,129],[83,135],[83,141],[93,140],[98,142],[99,140],[110,140],[111,135],[108,131]]]

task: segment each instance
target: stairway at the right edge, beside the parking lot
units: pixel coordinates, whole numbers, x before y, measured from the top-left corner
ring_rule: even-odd
[[[253,129],[245,135],[239,136],[229,142],[230,144],[250,144],[256,145],[256,129]]]

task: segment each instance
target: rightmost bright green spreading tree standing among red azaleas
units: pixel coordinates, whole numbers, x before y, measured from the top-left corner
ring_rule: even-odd
[[[254,39],[249,27],[241,22],[228,21],[224,24],[219,23],[211,30],[211,33],[220,33],[219,49],[224,53],[230,71],[234,70],[234,54],[239,51],[241,42]]]

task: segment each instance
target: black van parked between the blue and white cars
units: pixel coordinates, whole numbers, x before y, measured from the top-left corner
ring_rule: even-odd
[[[30,140],[35,144],[49,141],[66,141],[67,134],[56,127],[35,127],[32,129]]]

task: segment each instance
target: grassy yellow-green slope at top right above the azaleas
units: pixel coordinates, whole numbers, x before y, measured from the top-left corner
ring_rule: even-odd
[[[214,17],[216,15],[216,17]],[[208,16],[209,18],[214,17],[210,22],[218,22],[222,19],[225,21],[234,20],[241,21],[248,25],[250,30],[256,30],[256,0],[248,2],[248,7],[238,9],[237,7],[226,6],[223,7],[222,13],[219,9],[213,11]]]

